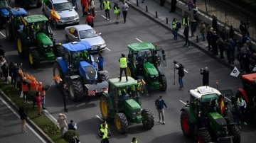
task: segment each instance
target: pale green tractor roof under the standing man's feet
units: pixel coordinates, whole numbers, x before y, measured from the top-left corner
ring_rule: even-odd
[[[114,78],[114,79],[110,79],[109,83],[118,88],[118,87],[124,87],[124,86],[134,86],[137,84],[137,81],[132,77],[128,76],[128,81],[125,80],[125,77],[122,77],[121,82],[119,82],[119,78]]]

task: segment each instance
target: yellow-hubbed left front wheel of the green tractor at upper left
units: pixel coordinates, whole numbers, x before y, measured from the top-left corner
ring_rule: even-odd
[[[29,65],[33,68],[37,68],[40,66],[40,55],[38,50],[32,49],[28,52],[28,62]]]

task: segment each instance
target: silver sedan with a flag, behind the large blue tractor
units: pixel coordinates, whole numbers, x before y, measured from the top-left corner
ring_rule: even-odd
[[[65,28],[65,39],[67,42],[87,41],[92,46],[92,52],[103,51],[106,49],[106,42],[90,25],[81,24]]]

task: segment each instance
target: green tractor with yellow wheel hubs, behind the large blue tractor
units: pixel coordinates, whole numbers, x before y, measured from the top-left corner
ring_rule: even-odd
[[[31,67],[39,67],[40,62],[53,62],[53,30],[48,18],[43,15],[31,15],[23,18],[23,28],[18,30],[16,47],[20,57],[28,57]],[[58,57],[58,56],[57,56]]]

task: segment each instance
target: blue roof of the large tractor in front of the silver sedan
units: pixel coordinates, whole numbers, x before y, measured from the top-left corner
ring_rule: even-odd
[[[84,50],[90,50],[92,47],[89,42],[81,41],[81,42],[68,42],[62,45],[65,50],[70,52],[79,52]]]

